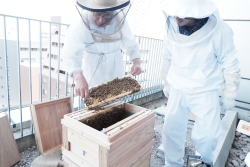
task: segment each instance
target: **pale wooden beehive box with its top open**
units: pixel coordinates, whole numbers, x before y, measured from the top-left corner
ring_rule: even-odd
[[[87,167],[149,166],[154,144],[155,114],[151,110],[121,102],[111,104],[106,109],[119,105],[123,105],[131,115],[103,131],[80,122],[93,115],[93,110],[64,116],[61,121],[62,152],[66,164]]]

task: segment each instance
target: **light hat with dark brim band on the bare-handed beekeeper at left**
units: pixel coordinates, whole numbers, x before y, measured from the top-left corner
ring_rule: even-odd
[[[106,12],[124,8],[130,4],[130,0],[77,0],[76,3],[88,11]]]

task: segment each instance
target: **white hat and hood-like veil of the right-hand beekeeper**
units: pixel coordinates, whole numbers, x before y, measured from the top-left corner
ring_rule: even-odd
[[[213,15],[217,11],[215,3],[211,0],[159,0],[160,8],[166,18],[166,38],[171,43],[188,46],[201,42],[207,38],[217,25],[217,18]],[[204,19],[207,23],[199,33],[190,36],[180,33],[180,27],[175,17],[181,19]]]

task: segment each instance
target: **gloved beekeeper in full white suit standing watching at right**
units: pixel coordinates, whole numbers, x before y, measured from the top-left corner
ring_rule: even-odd
[[[240,68],[233,32],[210,0],[161,0],[166,15],[161,77],[168,96],[162,142],[165,166],[182,167],[189,113],[192,140],[207,166],[221,135],[218,90],[223,111],[234,108]]]

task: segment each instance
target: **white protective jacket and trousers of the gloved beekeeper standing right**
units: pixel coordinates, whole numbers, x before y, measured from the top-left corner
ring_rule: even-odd
[[[173,17],[170,17],[170,23],[174,31],[179,32]],[[239,73],[233,32],[215,12],[190,36],[179,33],[177,36],[180,43],[173,40],[174,36],[165,36],[167,42],[163,52],[164,59],[171,61],[166,72],[171,89],[163,127],[165,164],[183,166],[190,111],[196,115],[192,130],[195,148],[203,161],[211,164],[221,134],[218,89],[224,85],[223,70]],[[167,64],[163,68],[167,69]]]

